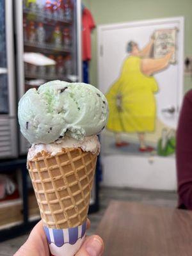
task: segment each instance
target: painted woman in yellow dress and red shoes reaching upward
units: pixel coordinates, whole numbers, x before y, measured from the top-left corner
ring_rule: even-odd
[[[158,91],[154,73],[168,67],[174,49],[159,59],[148,58],[154,39],[142,50],[136,42],[127,44],[129,56],[125,59],[120,77],[111,86],[106,98],[109,103],[107,129],[115,132],[116,147],[127,145],[120,139],[122,132],[137,132],[140,152],[154,150],[145,144],[145,132],[155,130],[156,99]]]

